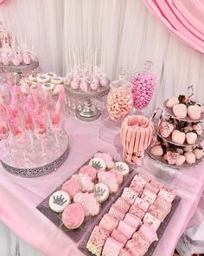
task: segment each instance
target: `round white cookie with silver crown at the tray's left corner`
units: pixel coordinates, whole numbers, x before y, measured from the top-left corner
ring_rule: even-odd
[[[62,213],[64,209],[71,203],[69,194],[64,191],[56,191],[49,198],[49,207],[55,213]]]

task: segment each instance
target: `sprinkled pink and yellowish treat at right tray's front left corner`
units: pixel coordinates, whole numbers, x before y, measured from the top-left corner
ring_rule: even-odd
[[[105,245],[105,240],[109,237],[102,227],[95,226],[92,230],[92,234],[87,242],[86,248],[94,255],[100,256],[102,248]]]

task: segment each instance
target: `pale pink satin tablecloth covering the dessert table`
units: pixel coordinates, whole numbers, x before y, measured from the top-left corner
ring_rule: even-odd
[[[35,179],[22,179],[7,174],[3,167],[0,167],[0,220],[22,240],[45,255],[82,255],[73,241],[35,207],[96,151],[110,152],[114,157],[119,157],[118,148],[99,139],[99,128],[100,121],[85,123],[70,117],[67,120],[70,154],[66,163],[52,174]],[[192,170],[169,172],[161,171],[159,167],[155,167],[154,161],[146,158],[144,166],[156,178],[170,182],[183,197],[153,254],[172,256],[177,240],[200,200],[204,186],[204,165]]]

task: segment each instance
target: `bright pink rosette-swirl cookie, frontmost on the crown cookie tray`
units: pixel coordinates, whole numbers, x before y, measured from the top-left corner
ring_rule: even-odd
[[[85,219],[83,207],[76,203],[67,206],[62,213],[62,221],[68,229],[78,228]]]

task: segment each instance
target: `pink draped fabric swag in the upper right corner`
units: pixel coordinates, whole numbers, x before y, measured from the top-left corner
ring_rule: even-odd
[[[204,0],[143,0],[177,37],[204,54]]]

